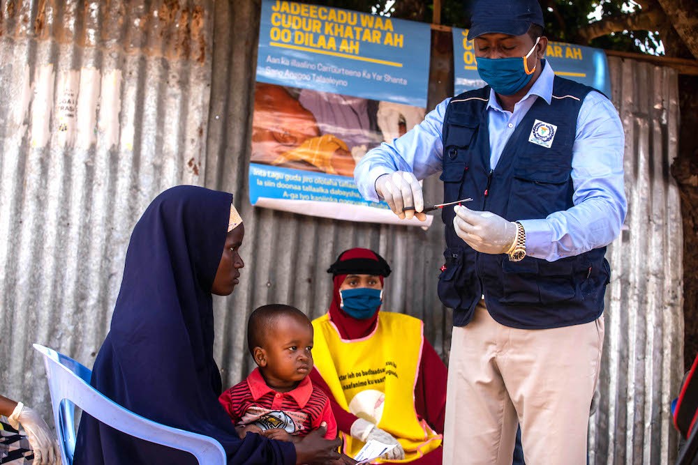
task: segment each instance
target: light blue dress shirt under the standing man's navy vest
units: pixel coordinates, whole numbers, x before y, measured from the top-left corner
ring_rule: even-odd
[[[544,63],[540,76],[526,96],[507,112],[494,91],[487,103],[490,167],[494,169],[507,140],[533,105],[542,98],[550,105],[554,72]],[[416,125],[392,143],[383,143],[366,153],[354,170],[359,192],[378,201],[378,176],[393,171],[410,171],[424,179],[441,171],[443,137],[441,130],[447,98]],[[628,204],[623,190],[623,125],[611,101],[598,92],[584,98],[577,116],[577,135],[572,146],[574,206],[551,213],[540,220],[521,220],[526,230],[526,254],[555,261],[573,257],[611,243],[620,234]],[[535,199],[532,199],[535,201]]]

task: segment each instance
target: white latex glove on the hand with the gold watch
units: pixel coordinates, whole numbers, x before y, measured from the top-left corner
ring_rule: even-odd
[[[485,254],[505,254],[509,252],[517,238],[517,225],[514,222],[490,213],[476,211],[464,206],[454,206],[456,216],[453,228],[456,235],[470,247]]]

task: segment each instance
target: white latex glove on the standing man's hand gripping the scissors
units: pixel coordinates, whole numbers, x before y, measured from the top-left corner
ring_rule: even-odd
[[[401,220],[410,220],[416,216],[419,221],[426,220],[424,210],[424,197],[422,185],[419,184],[414,174],[407,171],[395,171],[392,174],[382,174],[376,179],[376,194],[383,197],[390,209]],[[412,206],[414,210],[403,211],[406,206]]]

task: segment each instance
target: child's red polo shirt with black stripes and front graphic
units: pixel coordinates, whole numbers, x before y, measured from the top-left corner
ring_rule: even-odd
[[[329,398],[306,376],[297,388],[276,392],[269,388],[259,368],[245,381],[225,390],[218,397],[236,426],[257,425],[261,429],[281,428],[288,434],[305,436],[327,422],[325,439],[337,436],[337,424]]]

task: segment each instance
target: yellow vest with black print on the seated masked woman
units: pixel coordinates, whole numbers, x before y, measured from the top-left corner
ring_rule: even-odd
[[[376,330],[357,340],[343,340],[325,314],[313,320],[315,367],[332,390],[336,402],[359,418],[389,432],[412,462],[441,444],[437,434],[415,411],[415,383],[422,358],[422,320],[380,312]],[[362,441],[344,436],[344,452],[355,457]]]

